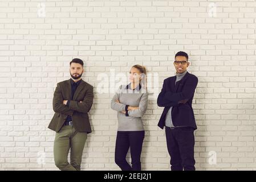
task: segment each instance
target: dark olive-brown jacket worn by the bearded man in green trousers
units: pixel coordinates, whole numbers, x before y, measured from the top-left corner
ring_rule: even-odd
[[[73,100],[71,100],[70,80],[59,82],[52,100],[55,114],[48,128],[59,132],[67,119],[67,115],[70,115],[76,131],[91,133],[88,112],[94,99],[93,89],[92,85],[82,80],[74,93]],[[63,100],[70,101],[70,104],[68,106],[64,105]]]

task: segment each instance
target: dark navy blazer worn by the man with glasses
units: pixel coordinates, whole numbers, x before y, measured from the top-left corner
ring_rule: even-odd
[[[192,100],[196,89],[198,78],[189,72],[180,80],[176,81],[176,76],[166,78],[162,85],[162,90],[157,98],[157,105],[164,107],[158,126],[163,129],[165,117],[172,106],[172,122],[174,126],[190,126],[197,129],[192,108]],[[185,104],[178,104],[178,101]]]

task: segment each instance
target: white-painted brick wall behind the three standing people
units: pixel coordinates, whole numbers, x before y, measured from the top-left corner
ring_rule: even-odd
[[[256,169],[254,0],[42,1],[45,18],[38,16],[39,3],[0,2],[1,170],[56,169],[54,132],[47,126],[56,83],[70,78],[73,57],[84,60],[83,79],[95,86],[94,131],[82,169],[119,169],[112,94],[97,93],[97,76],[143,64],[158,73],[160,90],[164,78],[174,75],[174,54],[181,50],[189,53],[189,71],[199,78],[193,102],[196,168]],[[156,126],[161,111],[156,100],[149,101],[144,170],[169,170],[165,134]],[[208,163],[210,151],[216,151],[216,165]]]

